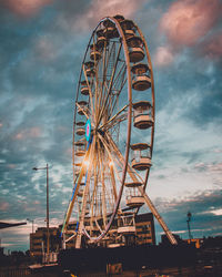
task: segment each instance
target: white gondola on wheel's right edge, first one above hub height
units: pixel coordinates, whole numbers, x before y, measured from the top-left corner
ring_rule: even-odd
[[[138,129],[149,129],[153,125],[151,115],[151,103],[149,101],[140,101],[133,103],[133,125]]]

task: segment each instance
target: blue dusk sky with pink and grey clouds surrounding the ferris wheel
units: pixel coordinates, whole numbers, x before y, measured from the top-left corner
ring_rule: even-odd
[[[118,13],[140,27],[153,64],[147,193],[182,238],[188,212],[193,237],[222,235],[221,0],[0,0],[0,220],[46,226],[46,171],[32,167],[48,163],[50,225],[62,223],[81,62],[100,19]],[[31,229],[0,230],[1,245],[27,250]]]

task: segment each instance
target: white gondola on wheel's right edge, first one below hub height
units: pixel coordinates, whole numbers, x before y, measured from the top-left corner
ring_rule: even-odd
[[[145,171],[151,167],[150,145],[147,143],[137,143],[131,145],[133,158],[131,165],[134,170]]]

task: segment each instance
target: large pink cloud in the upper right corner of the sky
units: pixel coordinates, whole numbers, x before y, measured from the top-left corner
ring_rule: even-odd
[[[221,11],[219,0],[179,0],[162,17],[160,29],[174,47],[192,47],[209,33]]]

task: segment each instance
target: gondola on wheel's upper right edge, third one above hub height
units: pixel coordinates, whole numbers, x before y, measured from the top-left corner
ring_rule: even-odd
[[[130,37],[127,40],[130,62],[140,62],[144,58],[143,41],[140,37]]]

